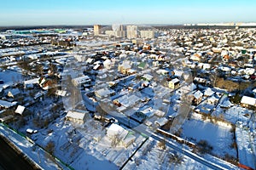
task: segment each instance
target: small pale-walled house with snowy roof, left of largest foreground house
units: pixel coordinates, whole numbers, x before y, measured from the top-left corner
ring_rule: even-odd
[[[83,124],[86,120],[88,111],[68,111],[65,119],[70,122],[76,122]]]

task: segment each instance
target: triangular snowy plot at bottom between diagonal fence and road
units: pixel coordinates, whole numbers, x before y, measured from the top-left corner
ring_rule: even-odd
[[[124,167],[130,169],[210,169],[201,163],[178,153],[166,146],[163,150],[159,142],[149,138]]]

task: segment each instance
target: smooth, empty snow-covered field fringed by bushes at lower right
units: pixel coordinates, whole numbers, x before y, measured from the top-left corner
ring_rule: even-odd
[[[194,143],[200,140],[207,140],[208,144],[213,147],[213,154],[218,156],[229,154],[236,157],[236,150],[230,147],[234,142],[233,133],[230,132],[231,127],[190,119],[183,124],[182,128],[183,139],[189,139],[189,141]]]

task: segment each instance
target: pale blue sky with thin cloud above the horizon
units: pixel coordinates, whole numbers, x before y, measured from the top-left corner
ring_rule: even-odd
[[[255,0],[0,0],[0,26],[256,22]]]

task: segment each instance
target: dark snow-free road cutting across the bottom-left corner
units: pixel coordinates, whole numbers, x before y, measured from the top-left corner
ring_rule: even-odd
[[[0,170],[34,169],[0,137]]]

